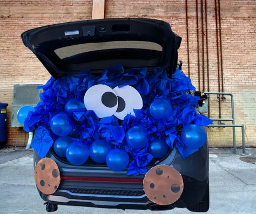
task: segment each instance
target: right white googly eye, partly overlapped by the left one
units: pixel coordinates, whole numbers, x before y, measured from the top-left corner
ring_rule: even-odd
[[[114,116],[120,120],[124,120],[127,114],[135,116],[133,109],[142,109],[143,100],[139,92],[132,86],[123,86],[113,88],[114,93],[118,97],[118,108]]]

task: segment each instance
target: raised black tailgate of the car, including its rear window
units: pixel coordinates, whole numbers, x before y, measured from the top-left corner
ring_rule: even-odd
[[[53,78],[89,69],[177,67],[181,38],[154,19],[98,19],[48,25],[22,33],[22,40]]]

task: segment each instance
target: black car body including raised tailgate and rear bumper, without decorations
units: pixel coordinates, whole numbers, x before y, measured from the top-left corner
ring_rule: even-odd
[[[164,67],[171,77],[176,70],[181,38],[172,32],[168,23],[154,19],[86,20],[38,27],[22,33],[22,40],[42,62],[53,78],[90,69],[100,74],[103,68],[120,63],[124,68]],[[127,176],[125,171],[114,172],[104,164],[86,162],[71,165],[50,149],[60,170],[61,182],[52,195],[39,191],[46,210],[56,210],[55,204],[91,206],[116,209],[167,210],[188,208],[205,212],[209,206],[208,144],[183,159],[174,148],[158,164],[171,165],[184,181],[181,197],[173,204],[151,202],[143,190],[143,178]],[[40,157],[35,153],[35,164]]]

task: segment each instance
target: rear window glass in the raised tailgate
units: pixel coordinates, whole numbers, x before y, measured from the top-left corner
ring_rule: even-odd
[[[66,47],[60,47],[54,52],[60,59],[75,56],[80,53],[86,53],[90,51],[109,50],[109,49],[144,49],[162,51],[163,48],[153,42],[145,41],[112,41],[102,43],[85,43],[78,45],[71,45]]]

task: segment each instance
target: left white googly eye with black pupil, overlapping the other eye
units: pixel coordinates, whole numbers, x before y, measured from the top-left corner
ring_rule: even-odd
[[[112,88],[99,84],[85,92],[84,105],[87,110],[94,111],[98,118],[104,118],[117,111],[118,98]]]

